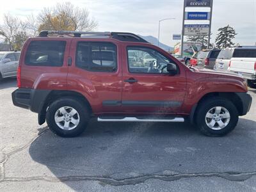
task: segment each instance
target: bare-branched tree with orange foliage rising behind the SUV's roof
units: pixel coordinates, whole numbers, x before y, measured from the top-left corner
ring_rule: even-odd
[[[38,15],[38,31],[93,31],[98,24],[89,15],[86,8],[75,7],[71,3],[58,3],[52,8],[44,8]]]

